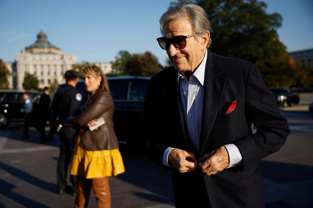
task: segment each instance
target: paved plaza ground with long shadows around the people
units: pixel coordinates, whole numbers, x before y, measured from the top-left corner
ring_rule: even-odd
[[[266,207],[313,207],[313,114],[282,111],[291,134],[283,148],[260,161]],[[56,194],[59,142],[40,143],[21,124],[0,131],[0,208],[73,207],[74,197]],[[138,151],[121,149],[126,173],[110,178],[112,207],[174,207],[170,176]],[[89,207],[96,207],[94,195]]]

